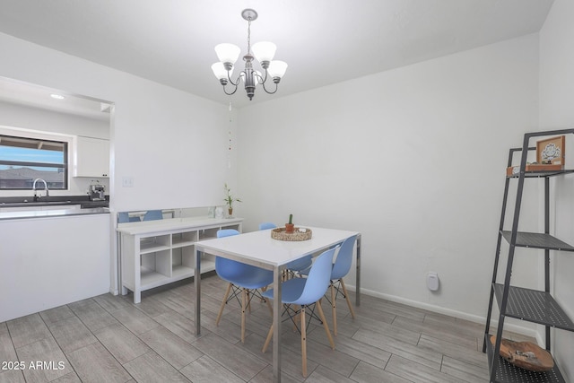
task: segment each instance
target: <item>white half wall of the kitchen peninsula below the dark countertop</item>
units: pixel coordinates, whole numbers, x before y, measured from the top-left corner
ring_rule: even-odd
[[[3,215],[0,323],[111,291],[108,209]]]

